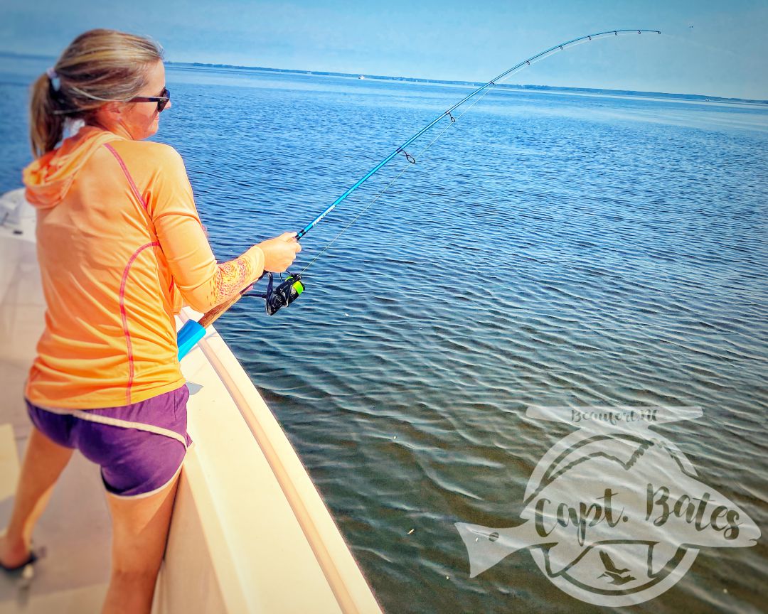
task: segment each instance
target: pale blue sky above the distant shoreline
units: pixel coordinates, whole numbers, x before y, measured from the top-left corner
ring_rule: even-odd
[[[664,34],[594,41],[510,82],[768,99],[765,0],[475,4],[3,0],[0,51],[57,55],[106,27],[150,35],[171,61],[488,81],[561,41],[653,28]]]

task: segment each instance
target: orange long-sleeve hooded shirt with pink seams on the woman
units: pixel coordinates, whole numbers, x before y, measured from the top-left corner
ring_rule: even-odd
[[[24,171],[37,208],[47,310],[26,396],[118,407],[184,384],[174,313],[206,312],[253,283],[253,246],[217,264],[184,162],[167,145],[84,127]]]

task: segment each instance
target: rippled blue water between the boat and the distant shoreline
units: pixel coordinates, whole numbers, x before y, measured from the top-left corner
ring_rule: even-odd
[[[44,68],[2,67],[3,191],[28,161],[25,83]],[[220,259],[304,226],[467,93],[202,69],[167,81],[157,138],[184,157]],[[406,168],[295,305],[269,318],[244,299],[217,322],[387,612],[598,611],[529,553],[468,577],[453,523],[520,523],[531,470],[572,431],[526,417],[531,404],[700,406],[658,431],[766,527],[766,152],[766,107],[492,92],[306,236],[296,271]],[[701,550],[635,610],[766,611],[765,543]]]

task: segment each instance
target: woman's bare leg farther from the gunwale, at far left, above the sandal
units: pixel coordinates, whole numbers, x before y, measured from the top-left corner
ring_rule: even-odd
[[[35,529],[53,487],[67,466],[74,450],[48,439],[33,425],[24,454],[22,474],[16,487],[11,522],[0,537],[0,563],[16,566],[29,556],[32,530]]]

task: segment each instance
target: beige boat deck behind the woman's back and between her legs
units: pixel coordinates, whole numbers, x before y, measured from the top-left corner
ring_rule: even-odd
[[[8,523],[18,470],[31,430],[24,385],[35,355],[45,302],[35,265],[34,212],[0,208],[0,527]],[[8,203],[8,196],[5,198]],[[98,612],[107,592],[111,523],[98,467],[79,452],[55,487],[35,530],[45,556],[25,583],[0,573],[0,614]]]

